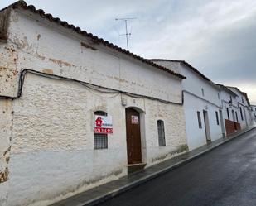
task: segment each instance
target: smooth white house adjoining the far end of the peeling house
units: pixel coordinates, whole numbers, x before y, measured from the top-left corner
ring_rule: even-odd
[[[225,134],[220,87],[183,60],[152,60],[185,75],[182,81],[186,137],[190,150],[215,141]]]

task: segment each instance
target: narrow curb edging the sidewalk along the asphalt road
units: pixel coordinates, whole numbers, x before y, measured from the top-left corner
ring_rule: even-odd
[[[210,146],[210,148],[205,149],[205,151],[201,151],[198,154],[196,154],[194,156],[191,156],[186,160],[181,160],[181,161],[177,162],[174,165],[170,165],[165,169],[162,169],[162,170],[159,170],[159,171],[155,172],[152,175],[147,175],[146,177],[143,177],[140,180],[136,180],[133,183],[126,184],[125,186],[123,186],[119,189],[114,189],[113,191],[111,191],[107,194],[99,196],[99,198],[90,199],[89,201],[87,201],[83,204],[79,204],[77,206],[94,206],[94,205],[97,205],[97,204],[100,204],[100,203],[104,203],[106,200],[114,198],[115,196],[118,196],[119,194],[123,194],[124,192],[128,191],[129,189],[133,189],[133,188],[137,187],[139,184],[146,183],[147,181],[153,180],[153,179],[157,178],[158,176],[163,175],[163,174],[165,174],[165,173],[167,173],[171,170],[175,170],[176,168],[178,168],[182,165],[186,165],[187,163],[191,162],[192,160],[195,160],[196,158],[199,158],[200,156],[204,156],[206,153],[208,153],[210,151],[213,151],[218,146],[224,145],[225,143],[227,143],[229,141],[232,141],[235,138],[240,137],[241,135],[244,135],[245,133],[254,130],[255,128],[256,127],[254,126],[252,128],[249,128],[249,130],[246,130],[244,132],[240,132],[238,134],[234,134],[234,135],[231,135],[229,137],[226,137],[226,139],[224,141],[221,141],[220,143],[216,144],[215,146]]]

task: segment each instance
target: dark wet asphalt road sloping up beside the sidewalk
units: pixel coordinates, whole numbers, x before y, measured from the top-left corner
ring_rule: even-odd
[[[256,206],[256,129],[99,206]]]

